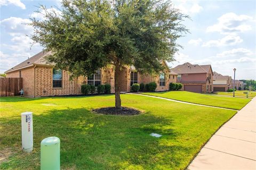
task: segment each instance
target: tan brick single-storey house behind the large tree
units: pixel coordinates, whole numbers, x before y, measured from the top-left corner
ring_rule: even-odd
[[[78,77],[69,80],[69,73],[65,70],[54,69],[46,64],[44,57],[51,52],[40,52],[28,60],[7,70],[7,78],[22,78],[23,90],[27,97],[80,95],[82,84],[110,84],[114,91],[114,69],[112,66],[103,67],[91,77]],[[177,75],[170,72],[165,62],[166,70],[161,75],[142,75],[133,66],[125,66],[122,70],[121,91],[130,92],[133,83],[156,82],[156,91],[169,90],[169,83],[176,82]]]

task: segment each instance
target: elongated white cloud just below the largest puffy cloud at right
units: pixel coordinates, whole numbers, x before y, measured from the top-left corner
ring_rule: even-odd
[[[242,43],[243,39],[235,35],[227,35],[218,40],[210,40],[202,45],[202,47],[219,47],[219,46],[231,46],[238,43]]]

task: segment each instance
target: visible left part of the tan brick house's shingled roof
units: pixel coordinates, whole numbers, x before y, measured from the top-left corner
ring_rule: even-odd
[[[28,58],[28,60],[23,61],[22,63],[12,67],[11,69],[7,70],[5,73],[9,73],[12,71],[20,70],[26,67],[33,66],[34,64],[46,64],[44,57],[46,55],[51,55],[51,52],[45,52],[44,50],[33,57]]]

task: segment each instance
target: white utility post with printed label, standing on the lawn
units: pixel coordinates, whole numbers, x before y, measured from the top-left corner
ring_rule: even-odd
[[[21,113],[22,149],[25,152],[33,150],[33,113]]]

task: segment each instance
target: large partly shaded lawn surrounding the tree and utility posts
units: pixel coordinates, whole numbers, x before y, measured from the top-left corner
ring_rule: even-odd
[[[122,95],[141,115],[91,112],[114,106],[114,95],[27,99],[1,98],[0,169],[39,169],[40,142],[61,140],[61,169],[185,169],[215,131],[236,111],[192,106],[146,96]],[[21,151],[20,113],[34,118],[34,150]],[[159,133],[161,138],[151,137]]]

